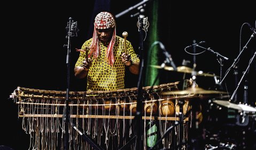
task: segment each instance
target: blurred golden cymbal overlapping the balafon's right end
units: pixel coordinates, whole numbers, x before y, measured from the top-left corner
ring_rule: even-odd
[[[185,90],[167,91],[161,93],[161,95],[188,95],[188,94],[227,94],[224,91],[218,90],[205,90],[203,88],[189,88]]]

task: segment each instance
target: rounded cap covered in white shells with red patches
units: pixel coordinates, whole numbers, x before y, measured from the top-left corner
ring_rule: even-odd
[[[111,13],[100,12],[97,14],[94,22],[96,29],[108,29],[115,27],[115,20]]]

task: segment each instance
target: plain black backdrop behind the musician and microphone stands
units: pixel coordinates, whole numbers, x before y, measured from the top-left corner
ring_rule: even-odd
[[[74,77],[74,64],[79,57],[75,48],[81,48],[84,41],[92,36],[92,23],[95,15],[102,11],[118,14],[123,10],[141,1],[84,1],[82,2],[13,2],[3,5],[7,11],[2,12],[2,104],[0,145],[10,146],[13,149],[28,149],[29,135],[21,130],[21,119],[18,119],[18,107],[9,99],[9,95],[18,86],[45,90],[66,90],[67,88],[67,44],[66,27],[68,18],[77,21],[80,29],[77,37],[71,40],[71,70],[69,89],[71,91],[86,90],[86,80]],[[147,3],[145,14],[152,12],[153,2]],[[131,41],[135,52],[139,54],[139,32],[137,31],[137,17],[130,18],[136,9],[118,18],[117,35],[121,36],[127,31],[127,40]],[[204,40],[202,46],[210,47],[215,52],[229,58],[223,62],[223,73],[232,64],[239,54],[241,47],[245,46],[252,35],[252,31],[245,24],[247,22],[255,28],[255,7],[249,1],[230,2],[221,1],[159,1],[159,40],[165,45],[167,51],[177,66],[182,65],[183,59],[192,62],[193,56],[185,53],[184,48],[192,44],[193,40]],[[151,18],[149,18],[151,23]],[[151,28],[151,24],[150,27]],[[150,36],[150,32],[148,32]],[[255,36],[255,35],[254,35]],[[149,46],[147,40],[144,53]],[[255,38],[252,38],[247,49],[239,60],[239,77],[246,70],[249,60],[256,49]],[[191,52],[191,49],[188,49]],[[200,51],[200,49],[198,49]],[[197,70],[213,72],[220,75],[220,64],[212,52],[196,55]],[[192,63],[191,63],[192,65]],[[255,59],[246,76],[249,80],[249,102],[255,105],[254,93],[256,85]],[[230,95],[235,85],[234,70],[231,69],[226,77]],[[150,76],[147,74],[147,76]],[[164,71],[161,74],[160,84],[181,81],[182,73]],[[189,77],[187,77],[189,78]],[[213,79],[198,77],[199,86],[211,88]],[[126,88],[136,87],[137,76],[127,73]],[[223,84],[225,85],[225,84]],[[149,86],[149,85],[148,85]],[[238,101],[243,102],[244,80],[238,89]]]

